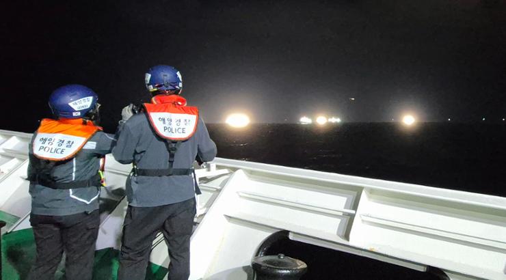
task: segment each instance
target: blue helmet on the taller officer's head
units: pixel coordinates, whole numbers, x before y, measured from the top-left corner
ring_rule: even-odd
[[[149,68],[146,72],[145,83],[150,92],[174,91],[175,94],[179,94],[183,89],[181,73],[176,68],[167,65]]]

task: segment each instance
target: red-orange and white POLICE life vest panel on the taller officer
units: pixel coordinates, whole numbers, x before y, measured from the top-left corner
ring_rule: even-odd
[[[177,95],[157,95],[151,102],[144,103],[144,108],[159,137],[185,141],[194,135],[198,124],[197,107],[187,107],[185,98]]]

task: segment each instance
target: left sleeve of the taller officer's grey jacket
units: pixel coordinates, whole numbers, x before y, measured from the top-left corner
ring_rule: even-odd
[[[116,132],[116,145],[112,148],[114,159],[124,165],[133,162],[133,154],[137,145],[137,136],[134,135],[131,122],[120,124]]]

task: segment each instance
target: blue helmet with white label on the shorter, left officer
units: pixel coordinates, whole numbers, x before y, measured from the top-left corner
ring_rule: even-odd
[[[98,96],[84,85],[64,85],[49,96],[49,107],[55,117],[77,119],[96,111]]]

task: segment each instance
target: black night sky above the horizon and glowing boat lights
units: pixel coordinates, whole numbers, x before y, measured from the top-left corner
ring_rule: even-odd
[[[72,3],[70,3],[72,2]],[[149,2],[149,3],[147,3]],[[61,85],[94,89],[103,124],[168,64],[206,122],[506,117],[506,3],[19,1],[3,4],[1,128],[32,132]],[[349,98],[355,98],[354,101]]]

